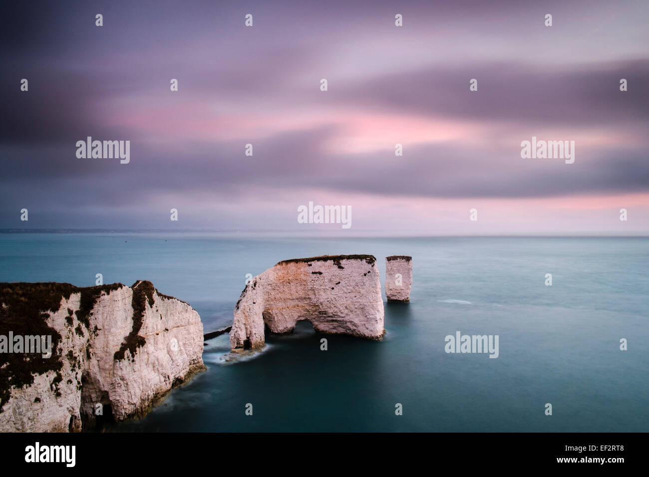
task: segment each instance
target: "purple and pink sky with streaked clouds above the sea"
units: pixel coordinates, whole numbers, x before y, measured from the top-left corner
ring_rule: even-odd
[[[0,228],[649,234],[646,1],[1,10]],[[88,136],[130,162],[77,158]],[[574,162],[522,158],[533,136]]]

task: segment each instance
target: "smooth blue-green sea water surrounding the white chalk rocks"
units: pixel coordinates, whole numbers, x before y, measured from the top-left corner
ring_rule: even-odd
[[[0,281],[151,280],[209,332],[232,322],[247,273],[361,253],[378,258],[382,280],[384,257],[413,256],[411,302],[386,303],[383,341],[326,336],[321,351],[305,322],[232,363],[219,336],[203,354],[208,371],[115,430],[649,431],[647,238],[0,234]],[[498,358],[447,354],[458,330],[498,335]]]

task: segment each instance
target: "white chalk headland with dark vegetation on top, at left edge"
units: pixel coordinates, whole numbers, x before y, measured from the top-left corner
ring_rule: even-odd
[[[0,334],[53,336],[50,358],[0,354],[0,432],[79,431],[110,413],[143,415],[204,369],[199,314],[151,282],[0,284],[0,307]]]

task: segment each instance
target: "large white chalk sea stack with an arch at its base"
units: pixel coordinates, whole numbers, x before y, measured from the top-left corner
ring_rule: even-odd
[[[246,285],[234,308],[233,350],[259,348],[264,326],[293,331],[308,320],[317,332],[381,339],[384,309],[376,259],[336,255],[279,262]]]

